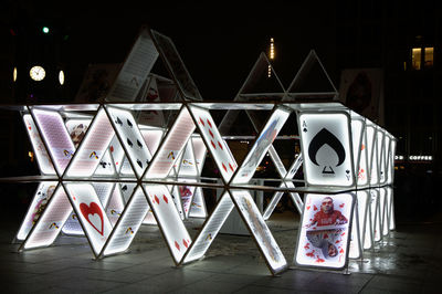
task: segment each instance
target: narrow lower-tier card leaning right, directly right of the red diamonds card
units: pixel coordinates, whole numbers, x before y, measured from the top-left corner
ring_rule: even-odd
[[[234,204],[229,193],[224,192],[221,199],[218,201],[212,214],[210,214],[209,219],[202,227],[202,230],[194,239],[192,245],[185,256],[183,263],[199,260],[204,255],[209,246],[212,244],[212,241],[215,239],[222,224],[224,224],[225,219],[229,217],[233,207]]]

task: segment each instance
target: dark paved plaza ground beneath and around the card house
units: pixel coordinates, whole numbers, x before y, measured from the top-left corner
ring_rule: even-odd
[[[129,254],[92,260],[82,238],[17,253],[11,240],[21,216],[0,224],[3,293],[440,293],[442,222],[399,222],[365,261],[341,272],[291,269],[271,276],[250,237],[220,234],[207,256],[176,267],[155,227],[143,227]],[[199,221],[188,222],[191,233]],[[293,259],[298,216],[274,213],[269,222],[285,258]]]

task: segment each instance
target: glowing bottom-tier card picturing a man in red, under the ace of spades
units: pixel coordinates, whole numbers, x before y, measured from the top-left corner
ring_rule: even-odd
[[[351,193],[306,195],[295,251],[297,265],[346,266],[354,199]]]

